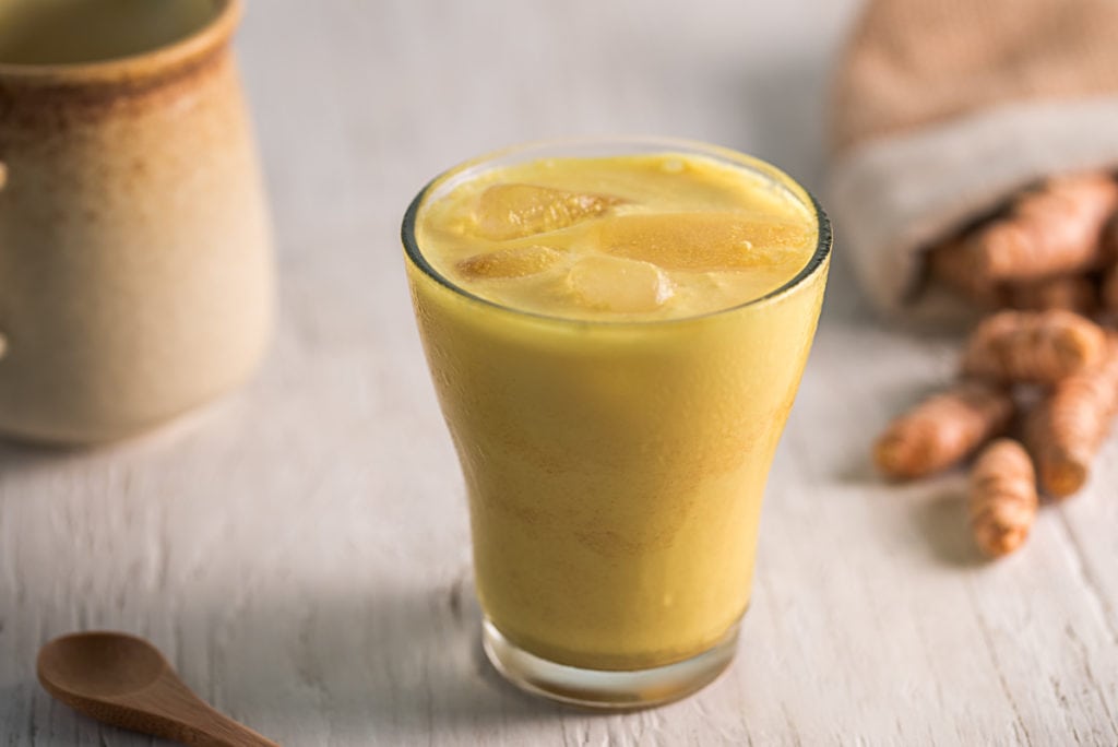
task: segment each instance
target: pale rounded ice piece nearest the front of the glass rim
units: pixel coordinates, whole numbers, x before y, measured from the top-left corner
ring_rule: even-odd
[[[647,262],[591,254],[571,266],[567,290],[587,309],[636,313],[664,305],[672,297],[672,281]]]

